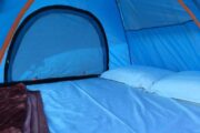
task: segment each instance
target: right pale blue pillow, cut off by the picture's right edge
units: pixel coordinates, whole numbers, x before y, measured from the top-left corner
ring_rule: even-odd
[[[152,92],[167,98],[200,103],[200,71],[186,71],[157,82]]]

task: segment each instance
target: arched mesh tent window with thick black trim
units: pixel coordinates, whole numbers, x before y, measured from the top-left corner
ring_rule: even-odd
[[[91,13],[66,6],[39,9],[13,37],[6,81],[98,75],[108,69],[102,25]]]

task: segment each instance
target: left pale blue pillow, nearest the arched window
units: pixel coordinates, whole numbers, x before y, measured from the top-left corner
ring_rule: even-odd
[[[172,71],[151,66],[130,65],[109,70],[102,73],[101,78],[118,81],[132,88],[149,90],[154,82],[173,73]]]

